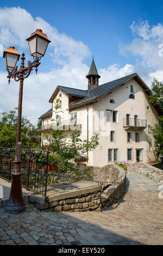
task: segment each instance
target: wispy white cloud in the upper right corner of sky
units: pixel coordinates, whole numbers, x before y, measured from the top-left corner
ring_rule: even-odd
[[[120,45],[120,53],[123,56],[133,54],[147,68],[163,69],[163,58],[159,56],[159,46],[163,43],[162,24],[158,23],[151,27],[148,21],[137,24],[133,22],[130,28],[135,38],[128,45]]]

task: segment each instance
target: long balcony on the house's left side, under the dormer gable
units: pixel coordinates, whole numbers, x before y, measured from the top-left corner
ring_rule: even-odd
[[[64,130],[64,131],[76,131],[81,130],[81,124],[79,119],[69,119],[57,123],[56,121],[51,124],[42,125],[42,129],[39,131],[52,131],[52,130]]]

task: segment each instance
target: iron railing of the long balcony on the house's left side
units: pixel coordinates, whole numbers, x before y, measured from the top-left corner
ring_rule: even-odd
[[[56,129],[56,127],[63,127],[64,130],[69,130],[70,126],[80,125],[79,119],[68,119],[65,121],[55,121],[51,124],[42,125],[42,130]]]

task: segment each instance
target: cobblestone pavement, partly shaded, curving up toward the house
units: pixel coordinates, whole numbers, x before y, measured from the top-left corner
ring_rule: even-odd
[[[127,174],[127,193],[102,212],[47,212],[28,205],[14,215],[0,209],[0,245],[162,245],[163,199],[155,185]]]

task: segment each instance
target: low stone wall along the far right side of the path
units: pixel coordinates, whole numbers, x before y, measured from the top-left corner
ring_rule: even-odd
[[[140,173],[157,183],[163,183],[163,170],[147,163],[130,163],[127,167],[127,172]]]

